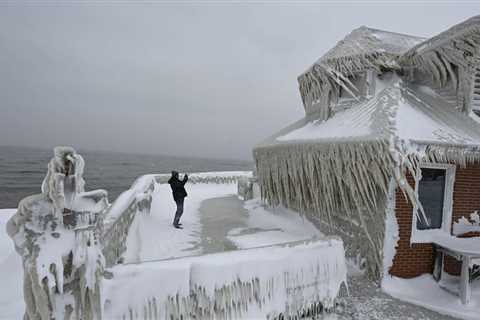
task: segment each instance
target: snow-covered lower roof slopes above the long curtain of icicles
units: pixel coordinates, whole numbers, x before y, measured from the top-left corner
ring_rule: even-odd
[[[337,112],[328,120],[300,120],[260,146],[394,139],[404,145],[480,146],[480,129],[425,86],[397,76],[378,82],[377,94]]]

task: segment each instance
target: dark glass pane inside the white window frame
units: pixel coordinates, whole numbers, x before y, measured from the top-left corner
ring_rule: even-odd
[[[421,214],[417,218],[417,229],[440,229],[443,221],[443,200],[445,195],[445,170],[422,169],[422,179],[418,185],[418,196],[427,217],[426,223]]]

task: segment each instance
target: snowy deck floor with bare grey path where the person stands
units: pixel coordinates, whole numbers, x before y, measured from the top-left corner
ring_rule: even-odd
[[[172,226],[175,214],[170,186],[156,183],[149,214],[137,215],[127,238],[124,263],[252,248],[321,237],[297,213],[266,210],[259,199],[243,204],[237,183],[186,185],[181,219],[183,229]]]

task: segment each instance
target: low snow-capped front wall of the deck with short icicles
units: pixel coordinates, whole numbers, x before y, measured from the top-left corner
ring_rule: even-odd
[[[301,241],[119,266],[108,319],[312,318],[346,289],[343,242]]]

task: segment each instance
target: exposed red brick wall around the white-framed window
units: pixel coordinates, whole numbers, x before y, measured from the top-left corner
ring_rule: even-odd
[[[407,179],[413,186],[413,178],[408,176]],[[413,207],[401,190],[396,191],[395,204],[400,239],[390,273],[402,278],[412,278],[423,273],[432,273],[433,246],[430,244],[410,245]],[[452,227],[453,222],[462,216],[468,218],[475,210],[480,210],[480,165],[470,165],[463,169],[457,166],[453,188]],[[451,274],[458,274],[460,271],[459,263],[448,257],[445,261],[445,270]]]

